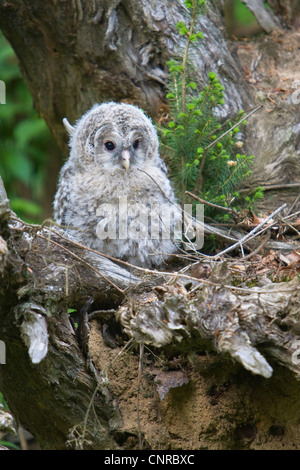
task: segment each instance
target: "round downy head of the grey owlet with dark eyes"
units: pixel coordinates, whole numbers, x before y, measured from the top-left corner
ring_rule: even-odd
[[[103,103],[93,106],[74,127],[63,122],[70,134],[70,159],[78,166],[126,172],[159,159],[156,130],[136,106]]]

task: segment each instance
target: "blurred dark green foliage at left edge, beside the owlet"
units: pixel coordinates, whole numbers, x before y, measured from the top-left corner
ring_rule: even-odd
[[[0,33],[0,174],[12,209],[29,222],[41,220],[50,132],[33,109],[13,49]]]

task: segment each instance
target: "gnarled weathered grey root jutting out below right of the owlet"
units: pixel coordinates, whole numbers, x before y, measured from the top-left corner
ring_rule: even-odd
[[[177,283],[157,288],[159,298],[138,305],[134,312],[130,305],[121,307],[125,331],[136,341],[157,348],[184,342],[197,332],[199,350],[227,353],[252,373],[269,378],[272,367],[267,355],[300,378],[300,366],[293,362],[299,341],[299,280],[240,292],[223,287],[225,278],[230,284],[228,276],[226,263],[221,263],[210,278],[215,286],[204,281],[189,293]]]

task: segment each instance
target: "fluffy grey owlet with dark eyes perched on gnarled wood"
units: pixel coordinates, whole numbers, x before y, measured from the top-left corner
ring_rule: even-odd
[[[70,156],[54,200],[54,218],[71,238],[143,267],[177,251],[181,223],[158,138],[137,107],[95,105],[70,133]]]

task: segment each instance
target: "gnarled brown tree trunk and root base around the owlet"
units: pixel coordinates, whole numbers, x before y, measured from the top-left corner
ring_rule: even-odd
[[[299,11],[290,14],[293,0],[284,9],[276,2],[277,18],[257,19],[266,29],[271,18],[277,31],[232,42],[221,3],[210,2],[199,21],[197,80],[217,72],[223,116],[264,104],[247,131],[256,155],[247,184],[266,186],[262,210],[292,206]],[[0,27],[64,153],[62,118],[73,123],[95,102],[128,101],[159,115],[165,63],[180,47],[175,25],[186,14],[172,0],[0,1]],[[0,390],[43,448],[299,448],[297,278],[234,289],[224,264],[208,279],[128,271],[16,219],[1,186],[0,229]],[[128,351],[136,344],[149,347],[142,375]]]

